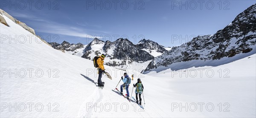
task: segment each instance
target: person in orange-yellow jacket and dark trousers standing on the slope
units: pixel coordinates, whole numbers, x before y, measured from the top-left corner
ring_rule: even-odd
[[[103,65],[105,57],[106,57],[106,55],[102,54],[97,59],[97,64],[99,65],[98,66],[98,70],[99,70],[98,86],[99,87],[103,87],[104,86],[104,82],[101,81],[101,78],[102,78],[102,73],[105,73],[105,68],[104,68],[104,65]]]

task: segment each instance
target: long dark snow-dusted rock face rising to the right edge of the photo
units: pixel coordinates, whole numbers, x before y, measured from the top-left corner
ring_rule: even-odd
[[[256,4],[240,13],[230,25],[213,35],[198,36],[150,62],[145,71],[194,59],[217,60],[248,53],[256,46]]]

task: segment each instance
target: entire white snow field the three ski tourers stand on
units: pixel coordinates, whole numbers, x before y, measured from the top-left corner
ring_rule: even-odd
[[[112,91],[124,73],[123,70],[105,66],[113,80],[103,76],[105,87],[99,89],[93,83],[98,76],[92,61],[62,53],[34,39],[25,43],[15,43],[13,40],[9,43],[10,37],[24,36],[28,39],[33,34],[3,17],[10,27],[0,23],[0,117],[256,117],[255,54],[226,65],[194,68],[214,71],[230,69],[229,78],[220,78],[219,75],[192,78],[179,77],[177,74],[172,77],[172,73],[176,73],[172,70],[144,75],[128,70],[129,75],[135,76],[132,83],[141,78],[145,87],[145,110],[141,110],[133,102],[129,103]],[[17,77],[13,73],[15,69]],[[28,70],[32,73],[29,74]],[[41,71],[36,74],[36,70],[44,74],[41,76]],[[131,86],[129,90],[131,94]],[[132,96],[135,97],[135,94]],[[15,106],[15,103],[17,112],[15,108],[9,107]],[[180,107],[174,108],[173,104],[176,103],[183,106],[186,103],[204,105],[202,112],[200,105],[197,105],[195,112],[190,111],[193,109],[190,105],[186,112],[185,108],[181,111]],[[209,103],[214,105],[212,112],[207,111],[210,107],[206,109]],[[221,112],[219,103],[222,103]],[[225,103],[230,104],[227,108],[229,112],[223,112],[228,106],[224,106]],[[23,104],[26,109],[22,112]],[[31,111],[28,104],[32,105]],[[44,106],[42,111],[40,105]]]

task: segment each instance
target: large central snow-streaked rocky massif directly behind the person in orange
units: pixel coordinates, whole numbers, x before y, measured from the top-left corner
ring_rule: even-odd
[[[94,48],[92,48],[95,46]],[[106,62],[109,66],[122,66],[132,62],[145,62],[154,59],[148,52],[141,50],[128,39],[117,39],[114,42],[93,39],[84,49],[83,58],[92,60],[94,56],[107,53],[110,61]],[[119,60],[117,62],[117,60]]]

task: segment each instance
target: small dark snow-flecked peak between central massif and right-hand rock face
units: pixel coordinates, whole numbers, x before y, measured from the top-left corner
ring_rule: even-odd
[[[146,49],[149,52],[153,50],[156,50],[159,53],[166,52],[166,49],[162,45],[158,45],[157,42],[153,42],[151,40],[143,39],[136,46],[140,49]]]

